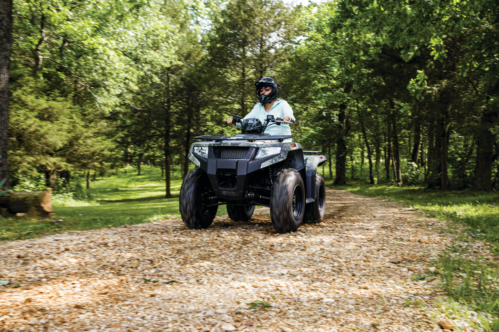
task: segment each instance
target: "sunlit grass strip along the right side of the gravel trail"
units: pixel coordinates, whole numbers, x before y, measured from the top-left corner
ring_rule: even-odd
[[[438,192],[416,186],[355,185],[335,188],[394,200],[424,211],[433,218],[446,220],[450,229],[443,231],[452,231],[457,236],[456,242],[450,244],[436,262],[443,288],[457,303],[499,317],[499,266],[486,254],[499,255],[499,194]],[[494,319],[484,329],[498,332],[499,320]]]

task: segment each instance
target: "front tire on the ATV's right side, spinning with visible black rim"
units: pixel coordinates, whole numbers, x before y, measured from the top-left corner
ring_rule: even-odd
[[[300,173],[285,168],[275,178],[270,193],[270,219],[278,233],[296,231],[303,221],[305,186]]]

